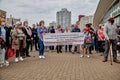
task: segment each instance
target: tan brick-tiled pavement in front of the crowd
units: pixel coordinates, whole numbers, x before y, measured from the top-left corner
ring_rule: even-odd
[[[98,54],[80,58],[46,52],[46,58],[39,59],[38,52],[32,52],[31,56],[19,63],[10,59],[9,67],[0,68],[0,80],[120,80],[120,64],[103,63]]]

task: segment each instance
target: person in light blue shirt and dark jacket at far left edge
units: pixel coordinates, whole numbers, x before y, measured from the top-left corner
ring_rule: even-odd
[[[10,31],[9,28],[5,26],[5,22],[3,21],[1,23],[1,27],[0,27],[0,36],[2,37],[2,39],[4,40],[5,46],[6,46],[6,52],[5,52],[5,65],[9,65],[8,62],[8,58],[7,58],[7,51],[10,47],[9,44],[9,37],[10,37]]]

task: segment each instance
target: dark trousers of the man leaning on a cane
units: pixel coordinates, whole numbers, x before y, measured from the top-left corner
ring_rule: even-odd
[[[110,40],[110,44],[112,45],[112,53],[113,53],[113,60],[117,59],[117,40]],[[108,46],[108,41],[105,40],[105,52],[104,52],[104,59],[107,60],[108,59],[108,54],[110,51],[110,48]]]

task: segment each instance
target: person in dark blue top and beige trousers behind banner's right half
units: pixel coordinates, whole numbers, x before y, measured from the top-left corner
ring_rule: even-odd
[[[77,24],[74,24],[74,28],[72,29],[72,32],[81,32],[80,28],[78,28]],[[72,54],[75,52],[80,53],[80,45],[73,45],[72,46]]]

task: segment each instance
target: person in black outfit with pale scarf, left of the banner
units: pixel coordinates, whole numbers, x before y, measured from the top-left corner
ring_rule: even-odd
[[[30,48],[30,44],[31,44],[31,37],[32,37],[32,31],[31,28],[28,26],[28,21],[24,21],[23,22],[23,32],[25,34],[26,37],[26,48],[24,49],[24,56],[25,57],[30,57],[29,55],[29,48]]]

